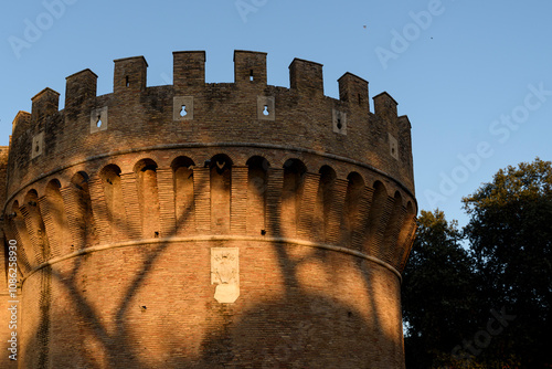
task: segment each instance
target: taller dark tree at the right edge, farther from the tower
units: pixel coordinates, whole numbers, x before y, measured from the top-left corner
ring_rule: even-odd
[[[552,162],[499,170],[463,202],[481,296],[516,315],[481,355],[552,366]]]

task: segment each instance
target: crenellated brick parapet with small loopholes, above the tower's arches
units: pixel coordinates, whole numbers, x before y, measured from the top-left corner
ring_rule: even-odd
[[[351,73],[339,80],[339,99],[323,95],[322,64],[295,59],[289,88],[267,85],[266,53],[234,52],[234,83],[205,83],[205,52],[173,53],[173,85],[147,86],[144,56],[114,61],[113,93],[96,96],[97,75],[84,70],[66,78],[65,108],[45,88],[32,113],[13,120],[11,168],[26,182],[61,162],[107,155],[123,147],[179,143],[266,143],[354,158],[385,171],[413,191],[410,125],[397,103],[373,97]]]

